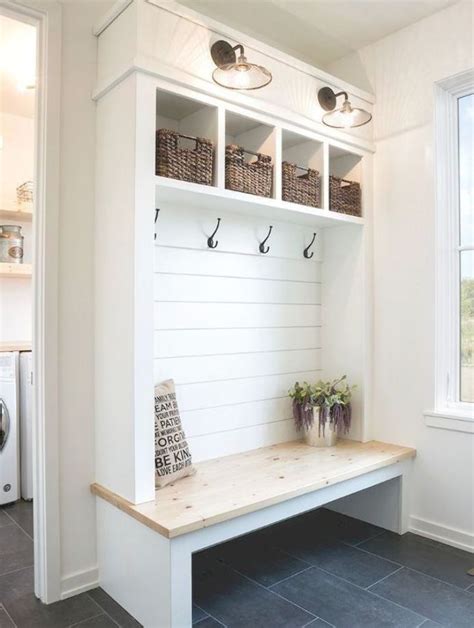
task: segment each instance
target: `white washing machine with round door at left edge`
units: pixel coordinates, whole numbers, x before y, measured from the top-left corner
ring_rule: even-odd
[[[0,505],[20,499],[19,354],[0,353]]]

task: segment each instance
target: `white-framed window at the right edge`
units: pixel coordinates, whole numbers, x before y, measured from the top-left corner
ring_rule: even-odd
[[[436,84],[435,114],[435,409],[425,415],[474,432],[473,70]]]

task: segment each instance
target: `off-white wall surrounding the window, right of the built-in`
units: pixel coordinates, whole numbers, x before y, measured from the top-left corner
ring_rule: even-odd
[[[376,96],[374,437],[418,450],[412,529],[474,549],[474,435],[423,418],[434,401],[433,83],[474,65],[472,23],[461,2],[328,70]]]

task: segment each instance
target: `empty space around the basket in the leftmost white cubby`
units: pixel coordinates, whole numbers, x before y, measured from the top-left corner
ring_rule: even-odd
[[[183,135],[211,140],[214,144],[212,185],[216,185],[218,122],[217,107],[171,92],[156,93],[156,130],[169,129]],[[193,140],[180,138],[179,147],[194,149]]]

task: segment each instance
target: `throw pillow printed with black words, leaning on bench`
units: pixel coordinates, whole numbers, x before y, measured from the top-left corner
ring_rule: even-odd
[[[155,486],[162,488],[195,472],[181,425],[174,381],[167,379],[155,386]]]

